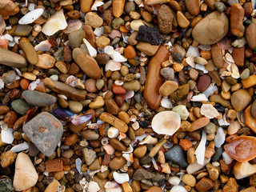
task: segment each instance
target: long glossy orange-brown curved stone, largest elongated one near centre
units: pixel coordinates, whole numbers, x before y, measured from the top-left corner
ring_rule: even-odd
[[[146,83],[144,87],[144,98],[152,110],[158,109],[162,96],[159,94],[159,88],[164,79],[160,74],[162,62],[169,58],[169,50],[166,46],[160,46],[157,53],[150,59],[149,68],[146,74]]]

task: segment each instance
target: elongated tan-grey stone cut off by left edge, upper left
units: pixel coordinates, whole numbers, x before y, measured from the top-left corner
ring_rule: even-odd
[[[22,55],[2,48],[0,48],[0,64],[18,68],[24,68],[27,65],[26,58],[23,58]]]

